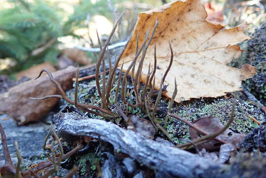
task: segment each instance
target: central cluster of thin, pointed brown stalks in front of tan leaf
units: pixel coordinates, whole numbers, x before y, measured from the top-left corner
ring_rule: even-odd
[[[100,44],[101,53],[100,53],[100,57],[99,57],[96,65],[95,65],[96,66],[95,82],[96,82],[96,87],[97,87],[98,94],[101,97],[101,106],[96,106],[96,105],[92,105],[92,104],[88,104],[88,103],[84,104],[84,103],[77,102],[77,86],[78,86],[78,75],[79,75],[78,67],[77,67],[77,71],[76,71],[75,100],[74,101],[71,100],[67,96],[67,94],[64,92],[64,90],[62,89],[60,84],[53,78],[53,76],[50,74],[50,72],[48,70],[46,70],[46,69],[42,69],[40,71],[39,76],[42,74],[42,72],[46,72],[48,74],[48,76],[49,76],[49,79],[59,89],[61,95],[49,95],[49,96],[44,96],[44,97],[41,97],[41,98],[32,98],[32,99],[43,100],[43,99],[51,98],[51,97],[58,97],[58,98],[65,99],[70,104],[74,104],[76,106],[76,108],[79,109],[79,110],[83,110],[83,111],[86,111],[88,113],[92,113],[92,114],[95,114],[95,115],[98,115],[98,116],[101,116],[101,117],[114,118],[114,117],[117,117],[118,114],[119,114],[119,115],[122,116],[122,118],[125,119],[125,122],[128,120],[128,118],[126,118],[126,117],[127,117],[127,111],[128,111],[127,108],[129,106],[132,107],[132,108],[140,108],[143,112],[145,112],[149,116],[151,122],[155,126],[157,126],[157,128],[159,130],[161,130],[161,132],[163,134],[165,134],[172,141],[172,138],[170,137],[170,135],[167,133],[167,131],[165,129],[167,128],[168,116],[180,119],[180,117],[170,113],[172,105],[173,105],[173,102],[174,102],[174,98],[175,98],[175,96],[177,94],[176,81],[175,81],[175,90],[173,92],[173,95],[172,95],[172,98],[171,98],[171,101],[170,101],[170,104],[169,104],[169,108],[168,108],[168,115],[165,118],[165,124],[164,124],[164,128],[165,129],[162,126],[160,126],[160,124],[158,123],[157,119],[155,118],[155,112],[157,110],[159,101],[161,99],[161,94],[167,88],[167,86],[165,86],[163,84],[164,84],[165,78],[167,76],[167,73],[169,72],[169,70],[170,70],[170,68],[172,66],[172,63],[173,63],[172,46],[169,43],[170,51],[171,51],[171,59],[170,59],[170,64],[169,64],[164,76],[161,79],[160,88],[158,90],[154,90],[154,84],[155,84],[155,77],[154,76],[155,76],[156,65],[157,65],[156,45],[155,44],[154,44],[154,65],[153,65],[153,70],[151,72],[151,64],[150,64],[149,65],[149,71],[148,71],[148,74],[147,74],[147,80],[145,82],[145,85],[141,86],[141,84],[140,84],[140,76],[141,76],[141,73],[142,73],[144,58],[145,58],[147,49],[148,49],[149,45],[152,42],[152,38],[153,38],[153,35],[155,33],[155,29],[156,29],[156,27],[158,25],[158,21],[156,20],[156,22],[154,24],[154,27],[153,27],[153,30],[152,30],[152,34],[150,36],[149,41],[148,41],[148,37],[150,35],[150,30],[148,30],[148,32],[146,31],[144,42],[140,46],[140,48],[138,47],[139,34],[137,33],[135,57],[133,58],[133,60],[130,63],[129,67],[127,68],[127,70],[124,73],[123,77],[122,77],[122,68],[123,68],[124,63],[122,63],[121,68],[120,68],[119,77],[118,77],[118,80],[116,82],[117,84],[116,84],[116,86],[114,86],[116,68],[118,67],[118,63],[119,63],[120,58],[121,58],[121,56],[122,56],[122,54],[123,54],[123,52],[125,50],[126,45],[125,45],[124,49],[116,57],[116,60],[114,62],[114,66],[113,67],[112,67],[112,64],[111,64],[111,57],[110,57],[108,45],[109,45],[110,40],[111,40],[111,38],[112,38],[112,36],[114,34],[114,31],[116,29],[117,24],[121,20],[121,17],[122,17],[122,14],[120,15],[119,19],[115,23],[114,28],[113,28],[113,30],[111,32],[111,35],[109,36],[109,38],[106,41],[104,46],[101,45],[100,39],[99,39],[99,36],[98,36],[98,32],[97,32],[97,37],[98,37],[98,41],[99,41],[99,44]],[[110,66],[110,69],[109,69],[110,73],[108,75],[107,82],[106,82],[106,67],[105,67],[105,60],[104,60],[104,55],[106,53],[106,50],[107,50],[108,59],[109,59],[109,66]],[[140,55],[141,52],[142,52],[142,56],[140,58],[137,71],[135,72],[136,61],[139,58],[139,55]],[[102,89],[101,89],[100,80],[99,80],[99,71],[100,71],[101,64],[102,64],[102,68],[103,68],[103,85],[102,85]],[[126,95],[127,95],[127,91],[126,91],[127,90],[127,76],[129,74],[130,70],[131,70],[131,82],[133,84],[133,90],[130,91],[129,96],[131,97],[132,92],[135,93],[135,98],[136,98],[135,104],[133,104],[133,102],[128,102],[126,100]],[[39,78],[39,76],[37,78]],[[121,106],[122,109],[117,104],[117,98],[118,98],[118,92],[119,92],[120,84],[121,84],[121,93],[120,94],[121,94],[121,100],[122,100],[122,106]],[[114,89],[116,89],[114,103],[111,103],[110,94],[111,94],[111,91],[113,91]],[[149,93],[148,93],[148,89],[149,89]],[[142,90],[142,92],[141,92],[141,90]],[[154,95],[157,95],[157,97],[156,97],[155,103],[153,104],[152,97]],[[132,98],[130,98],[130,100],[132,101]],[[116,111],[114,110],[114,108],[116,108]],[[126,114],[123,113],[123,111],[122,111],[122,110],[124,110],[124,108],[126,108]],[[234,106],[233,106],[233,108],[234,108]],[[152,113],[150,111],[152,111]],[[182,119],[180,119],[180,120],[182,121]],[[182,122],[184,122],[184,121],[182,121]],[[199,131],[199,132],[201,132],[201,131]],[[205,133],[203,133],[203,134],[205,134]],[[216,135],[216,134],[212,134],[211,137],[210,137],[210,135],[205,135],[200,140],[196,140],[196,142],[195,142],[196,145],[199,144],[199,142],[202,143],[203,141],[206,141],[206,139],[208,140],[210,138],[213,138],[213,135]],[[191,148],[191,146],[193,146],[193,144],[191,144],[189,142],[184,144],[184,145],[179,145],[180,148],[188,148],[188,147]]]

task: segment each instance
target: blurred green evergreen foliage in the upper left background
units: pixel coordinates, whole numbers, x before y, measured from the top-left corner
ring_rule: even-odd
[[[146,0],[149,4],[159,5]],[[0,7],[0,62],[9,64],[8,68],[0,67],[0,73],[11,74],[25,70],[44,61],[56,63],[60,53],[60,40],[82,39],[80,29],[87,29],[95,15],[103,16],[100,32],[105,28],[112,29],[112,22],[124,10],[123,0],[4,0]],[[119,5],[119,3],[121,5]],[[147,8],[147,7],[146,7]],[[129,12],[131,10],[131,12]],[[127,10],[127,14],[137,13],[136,8]],[[146,10],[144,8],[144,10]],[[132,17],[128,17],[132,18]],[[132,22],[134,25],[134,22]],[[124,25],[126,23],[123,23]],[[106,27],[107,26],[107,27]],[[111,26],[111,27],[110,27]],[[96,28],[96,27],[92,27]],[[121,26],[119,28],[122,28]],[[78,31],[79,30],[79,31]],[[120,29],[121,31],[121,29]],[[117,33],[118,34],[118,33]],[[96,34],[90,34],[95,36]],[[128,35],[128,34],[127,34]],[[61,39],[60,39],[61,37]],[[62,37],[68,37],[62,39]],[[87,36],[88,37],[88,36]],[[116,41],[123,40],[126,34],[116,35]],[[93,46],[88,38],[85,42]],[[83,42],[84,43],[84,42]]]

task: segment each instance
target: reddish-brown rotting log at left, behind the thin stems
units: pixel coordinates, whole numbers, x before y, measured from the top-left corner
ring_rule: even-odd
[[[53,72],[52,75],[62,88],[67,90],[72,87],[72,78],[75,76],[75,72],[76,68],[70,66]],[[8,117],[19,121],[19,125],[37,121],[51,110],[58,98],[38,101],[29,97],[42,97],[58,93],[57,88],[47,75],[41,76],[37,80],[24,82],[0,95],[0,114],[7,114]]]

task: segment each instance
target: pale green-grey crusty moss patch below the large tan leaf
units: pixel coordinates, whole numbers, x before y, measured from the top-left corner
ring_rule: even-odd
[[[167,111],[168,108],[165,107],[166,104],[167,103],[163,102],[160,103],[161,109]],[[220,121],[226,125],[230,118],[231,109],[232,99],[204,99],[188,101],[183,104],[175,104],[172,108],[172,113],[181,116],[190,122],[202,117],[214,116],[218,117]],[[164,116],[162,114],[163,112],[159,113],[160,114],[158,114],[157,117],[159,117],[161,123],[164,124],[166,113]],[[256,106],[250,105],[246,101],[237,99],[234,121],[230,125],[229,129],[236,133],[249,133],[254,127],[258,126],[257,123],[254,123],[249,116],[254,117],[259,122],[265,121],[264,114],[257,109]],[[167,132],[173,137],[173,140],[176,143],[183,143],[180,138],[191,139],[188,125],[175,118],[170,117],[167,123]]]

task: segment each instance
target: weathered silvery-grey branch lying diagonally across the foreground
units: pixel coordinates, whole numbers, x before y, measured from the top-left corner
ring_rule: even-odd
[[[165,146],[111,122],[88,119],[74,113],[58,113],[52,117],[52,122],[54,130],[67,142],[73,142],[80,136],[100,138],[139,163],[170,177],[209,177],[210,170],[216,172],[223,168],[221,164],[177,147]]]

